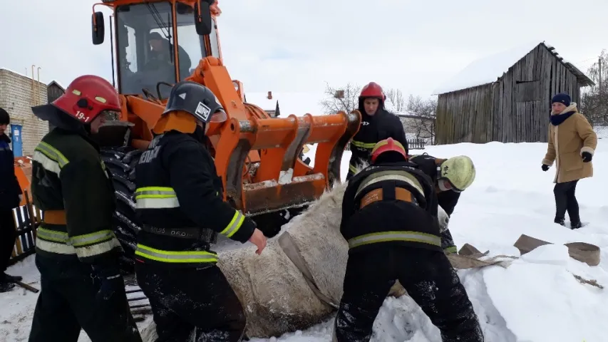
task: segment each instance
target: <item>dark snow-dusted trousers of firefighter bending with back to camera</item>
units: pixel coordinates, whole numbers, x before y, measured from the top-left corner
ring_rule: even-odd
[[[473,305],[445,254],[386,246],[349,255],[334,341],[369,341],[396,279],[439,328],[443,342],[484,341]]]

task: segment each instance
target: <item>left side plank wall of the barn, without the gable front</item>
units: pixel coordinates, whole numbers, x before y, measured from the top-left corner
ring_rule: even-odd
[[[478,86],[439,95],[437,100],[437,144],[486,142],[492,113],[493,85]]]

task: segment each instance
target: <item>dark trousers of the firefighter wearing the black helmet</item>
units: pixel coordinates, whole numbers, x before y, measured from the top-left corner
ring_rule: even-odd
[[[247,323],[241,303],[217,266],[171,269],[135,262],[138,284],[150,300],[155,342],[237,342]]]

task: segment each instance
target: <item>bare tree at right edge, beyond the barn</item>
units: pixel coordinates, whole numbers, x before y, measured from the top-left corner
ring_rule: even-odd
[[[608,53],[602,51],[599,61],[587,69],[595,86],[582,88],[580,110],[589,122],[608,124]],[[601,69],[601,70],[600,70]]]

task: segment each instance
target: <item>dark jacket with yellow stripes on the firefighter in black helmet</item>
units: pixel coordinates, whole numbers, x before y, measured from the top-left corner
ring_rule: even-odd
[[[135,166],[136,213],[143,223],[138,260],[205,267],[217,262],[205,230],[247,242],[255,222],[223,201],[222,180],[210,153],[194,135],[157,135]]]

